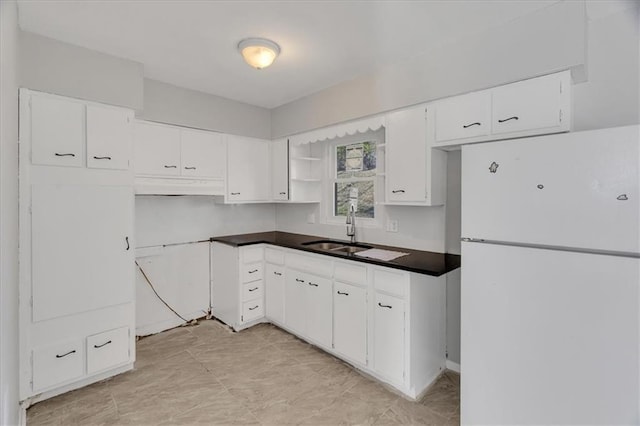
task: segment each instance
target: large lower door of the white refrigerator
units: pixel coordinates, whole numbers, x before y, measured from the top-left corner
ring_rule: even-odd
[[[462,424],[638,424],[640,259],[462,244]]]

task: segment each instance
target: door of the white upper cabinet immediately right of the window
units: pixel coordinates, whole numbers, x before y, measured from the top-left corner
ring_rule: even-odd
[[[387,115],[386,199],[426,201],[426,120],[423,107]]]

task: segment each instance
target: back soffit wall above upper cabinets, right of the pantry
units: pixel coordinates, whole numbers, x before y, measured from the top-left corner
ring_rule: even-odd
[[[271,112],[242,102],[144,80],[144,120],[256,138],[271,137]]]

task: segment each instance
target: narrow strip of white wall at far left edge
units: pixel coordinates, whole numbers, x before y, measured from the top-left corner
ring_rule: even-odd
[[[0,2],[0,424],[18,409],[18,9]]]

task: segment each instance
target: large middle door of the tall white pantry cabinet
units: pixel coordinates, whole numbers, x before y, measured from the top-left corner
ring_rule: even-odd
[[[32,186],[33,321],[133,300],[133,190]]]

